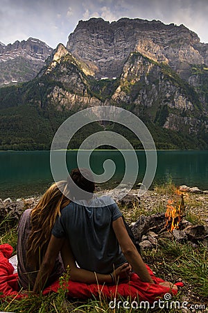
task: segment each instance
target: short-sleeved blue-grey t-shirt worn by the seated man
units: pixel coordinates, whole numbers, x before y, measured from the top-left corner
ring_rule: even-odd
[[[55,221],[52,234],[67,237],[80,268],[107,274],[126,262],[112,228],[112,221],[122,214],[117,204],[110,202],[107,196],[92,199],[88,206],[85,200],[83,204],[70,202]]]

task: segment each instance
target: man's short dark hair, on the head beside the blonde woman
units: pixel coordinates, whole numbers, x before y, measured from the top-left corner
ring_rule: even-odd
[[[73,180],[76,186],[78,186],[83,191],[87,191],[87,193],[91,193],[91,195],[87,195],[86,193],[78,191],[78,189],[71,183],[71,180]],[[92,198],[92,194],[95,190],[92,172],[90,172],[87,168],[74,168],[71,170],[67,179],[67,185],[69,187],[70,195],[76,199]]]

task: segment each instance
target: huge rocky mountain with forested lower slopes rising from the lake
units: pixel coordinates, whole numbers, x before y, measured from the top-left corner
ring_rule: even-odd
[[[121,106],[143,120],[157,148],[208,148],[208,45],[185,26],[159,21],[80,21],[32,81],[0,89],[0,149],[49,149],[60,124],[89,106]],[[69,147],[110,129],[93,123]]]

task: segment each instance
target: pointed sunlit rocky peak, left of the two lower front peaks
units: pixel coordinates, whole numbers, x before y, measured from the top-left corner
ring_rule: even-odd
[[[48,94],[48,105],[52,104],[58,111],[62,111],[102,104],[89,91],[89,81],[85,74],[88,73],[87,64],[81,65],[64,45],[58,45],[46,63],[39,77],[56,82],[58,79],[58,83],[54,84]]]

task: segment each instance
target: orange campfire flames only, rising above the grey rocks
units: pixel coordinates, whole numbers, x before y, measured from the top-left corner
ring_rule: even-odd
[[[178,197],[180,196],[180,200]],[[168,200],[167,209],[165,213],[166,230],[173,232],[173,230],[181,230],[182,218],[185,216],[184,193],[180,191],[175,192],[174,200]]]

